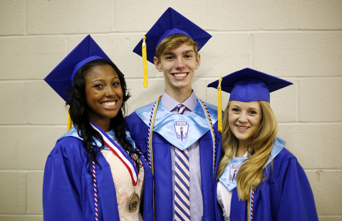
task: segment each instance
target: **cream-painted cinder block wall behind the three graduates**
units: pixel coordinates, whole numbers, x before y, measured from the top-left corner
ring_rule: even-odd
[[[0,1],[0,220],[43,220],[43,169],[66,132],[66,108],[43,78],[86,35],[125,73],[128,113],[162,94],[161,73],[132,52],[172,6],[212,34],[193,88],[250,67],[294,83],[271,94],[279,137],[314,190],[320,220],[342,220],[342,1]],[[227,104],[224,95],[224,105]]]

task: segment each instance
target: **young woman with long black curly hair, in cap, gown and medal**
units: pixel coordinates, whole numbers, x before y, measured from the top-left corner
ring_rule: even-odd
[[[46,160],[44,220],[142,220],[147,164],[125,130],[123,73],[87,36],[45,80],[70,106],[73,128]]]

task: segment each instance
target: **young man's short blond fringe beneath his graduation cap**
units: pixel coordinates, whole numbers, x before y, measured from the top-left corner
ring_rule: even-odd
[[[171,51],[172,49],[178,48],[183,43],[185,43],[187,46],[194,47],[195,56],[197,58],[197,42],[184,34],[172,34],[162,39],[162,41],[160,41],[160,43],[158,44],[157,48],[155,48],[155,56],[157,57],[158,61],[160,61],[160,57],[163,54],[167,53],[168,51]]]

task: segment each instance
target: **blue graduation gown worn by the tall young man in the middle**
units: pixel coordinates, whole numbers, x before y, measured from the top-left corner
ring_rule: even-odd
[[[160,104],[161,106],[161,104]],[[207,104],[207,106],[209,106]],[[146,114],[149,114],[152,104],[145,107]],[[159,110],[159,107],[158,107]],[[216,111],[217,112],[217,111]],[[217,113],[216,113],[217,114]],[[157,112],[158,115],[158,112]],[[131,113],[125,117],[126,123],[130,130],[130,135],[138,149],[145,155],[147,159],[147,130],[148,127],[136,112]],[[213,122],[214,123],[214,122]],[[221,155],[221,135],[217,130],[217,120],[214,123],[214,135],[216,139],[216,164],[215,174],[218,160]],[[155,131],[152,134],[153,158],[155,168],[155,220],[172,220],[173,214],[173,192],[172,192],[172,160],[170,152],[170,143]],[[199,155],[200,155],[200,170],[202,178],[202,199],[203,199],[203,219],[207,221],[215,220],[215,204],[217,204],[214,197],[214,177],[213,177],[213,148],[212,136],[210,130],[204,133],[199,138]],[[153,192],[153,177],[152,171],[149,169],[148,173],[145,171],[145,186],[144,186],[144,220],[153,220],[153,206],[152,206],[152,192]]]

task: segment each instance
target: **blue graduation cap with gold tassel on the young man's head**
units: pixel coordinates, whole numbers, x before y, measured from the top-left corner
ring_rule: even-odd
[[[153,62],[155,48],[162,39],[172,34],[184,34],[197,42],[198,51],[212,36],[199,28],[195,23],[182,16],[175,9],[168,8],[155,22],[152,28],[147,31],[144,38],[133,49],[133,52],[142,56],[144,66],[144,87],[147,87],[147,61]]]

